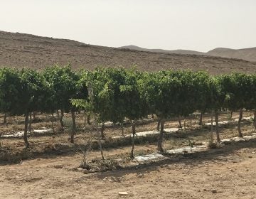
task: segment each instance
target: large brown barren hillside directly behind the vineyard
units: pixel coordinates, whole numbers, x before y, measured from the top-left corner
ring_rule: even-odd
[[[206,70],[211,74],[228,73],[232,70],[256,72],[256,63],[245,60],[110,48],[66,39],[0,31],[1,67],[41,69],[55,63],[71,63],[73,68],[87,69],[100,65],[125,68],[137,65],[139,70],[148,71],[190,68]]]

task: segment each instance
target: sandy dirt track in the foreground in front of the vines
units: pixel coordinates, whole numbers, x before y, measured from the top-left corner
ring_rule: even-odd
[[[65,156],[0,166],[0,198],[256,198],[255,142],[87,175],[70,171],[79,161],[80,156]]]

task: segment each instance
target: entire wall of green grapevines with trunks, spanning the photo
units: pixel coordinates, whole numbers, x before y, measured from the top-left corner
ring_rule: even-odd
[[[215,112],[218,136],[218,112],[256,108],[256,75],[232,73],[210,76],[206,72],[161,70],[139,72],[135,68],[97,68],[75,72],[70,65],[53,66],[38,72],[26,69],[0,69],[0,112],[24,114],[24,141],[27,139],[31,112],[71,112],[74,141],[75,111],[84,109],[97,122],[122,123],[129,119],[133,138],[137,120],[156,114],[160,124],[158,150],[162,148],[164,122],[171,117],[186,117],[195,111]],[[131,156],[133,157],[134,139]]]

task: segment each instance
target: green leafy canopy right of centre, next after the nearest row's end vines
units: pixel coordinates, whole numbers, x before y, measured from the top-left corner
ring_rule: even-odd
[[[159,118],[187,116],[199,107],[198,104],[201,104],[203,99],[207,98],[203,96],[205,88],[198,81],[200,75],[206,76],[203,72],[194,73],[186,70],[145,73],[143,81],[139,84],[140,92],[146,99],[151,112]],[[206,104],[203,109],[205,106]]]

